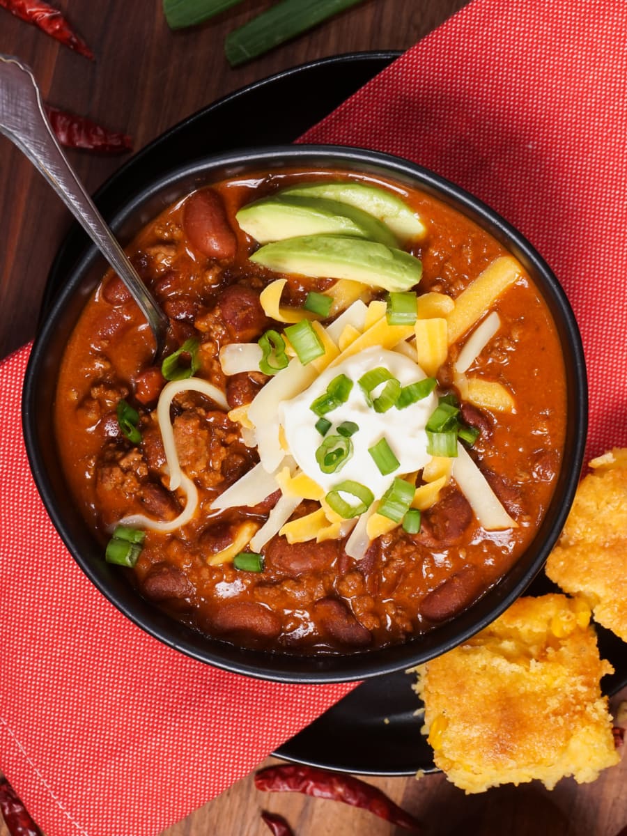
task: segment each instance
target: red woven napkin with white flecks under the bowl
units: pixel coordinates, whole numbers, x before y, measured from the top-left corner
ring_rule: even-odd
[[[584,335],[590,454],[627,444],[625,67],[622,0],[474,0],[304,138],[430,167],[543,252]],[[349,686],[212,670],[102,598],[28,473],[27,354],[0,369],[0,768],[48,836],[154,836]]]

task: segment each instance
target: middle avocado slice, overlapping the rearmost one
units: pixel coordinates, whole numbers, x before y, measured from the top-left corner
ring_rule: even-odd
[[[397,247],[389,227],[359,207],[324,197],[278,194],[243,206],[237,223],[260,244],[303,235],[354,235]]]

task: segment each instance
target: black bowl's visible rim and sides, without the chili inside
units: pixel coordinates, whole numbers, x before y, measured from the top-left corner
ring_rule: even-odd
[[[94,538],[69,494],[51,433],[54,388],[64,345],[81,309],[104,273],[92,248],[77,263],[35,341],[23,392],[23,428],[33,476],[61,538],[97,588],[131,621],[166,645],[197,660],[237,673],[275,681],[354,681],[403,670],[440,655],[481,630],[523,593],[543,567],[563,528],[579,480],[587,426],[584,354],[572,309],[558,280],[538,252],[495,212],[420,166],[368,150],[290,145],[242,150],[194,161],[138,186],[135,195],[108,218],[122,242],[176,198],[201,185],[246,171],[283,167],[342,168],[417,186],[455,206],[486,228],[523,263],[543,294],[561,339],[568,387],[566,451],[553,500],[530,547],[482,599],[430,633],[380,650],[352,655],[294,656],[244,650],[191,630],[147,603],[119,568],[104,563]]]

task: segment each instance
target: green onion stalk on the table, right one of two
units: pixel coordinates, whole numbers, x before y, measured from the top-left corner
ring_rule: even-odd
[[[227,35],[224,51],[232,67],[268,52],[361,0],[283,0]]]

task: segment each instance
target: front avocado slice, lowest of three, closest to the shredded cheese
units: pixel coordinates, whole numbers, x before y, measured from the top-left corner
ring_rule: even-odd
[[[409,252],[341,235],[287,238],[260,247],[250,260],[278,273],[348,278],[391,292],[413,288],[422,275]]]

